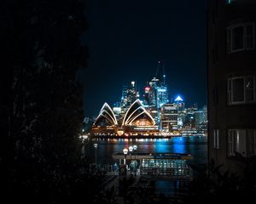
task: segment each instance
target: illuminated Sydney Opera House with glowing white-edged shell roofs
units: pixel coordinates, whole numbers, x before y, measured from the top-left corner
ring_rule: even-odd
[[[90,129],[90,133],[95,135],[156,135],[159,128],[143,107],[141,101],[137,99],[125,112],[125,116],[117,120],[111,107],[105,103],[96,121]]]

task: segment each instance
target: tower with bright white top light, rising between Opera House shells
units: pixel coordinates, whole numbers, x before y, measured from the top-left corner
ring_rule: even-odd
[[[124,98],[123,98],[124,97]],[[137,92],[137,88],[135,86],[135,82],[131,82],[130,87],[125,87],[125,91],[123,88],[122,100],[121,100],[121,112],[120,117],[125,116],[126,111],[132,105],[134,101],[139,98],[139,94]]]

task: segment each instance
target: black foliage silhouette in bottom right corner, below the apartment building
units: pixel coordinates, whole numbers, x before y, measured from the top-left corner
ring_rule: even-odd
[[[241,157],[241,175],[222,171],[223,165],[216,166],[213,160],[205,167],[193,166],[198,175],[190,183],[189,195],[184,203],[241,203],[245,198],[253,200],[256,193],[256,158]]]

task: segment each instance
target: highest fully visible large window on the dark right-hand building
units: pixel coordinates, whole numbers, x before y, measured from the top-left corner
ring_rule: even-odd
[[[227,29],[228,53],[255,48],[255,30],[253,23],[230,26]]]

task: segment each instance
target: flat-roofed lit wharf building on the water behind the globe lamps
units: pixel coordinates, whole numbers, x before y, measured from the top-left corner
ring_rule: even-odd
[[[121,174],[134,174],[140,178],[192,179],[192,170],[187,161],[192,160],[193,156],[189,154],[137,153],[125,156],[116,153],[112,157],[119,160]]]

